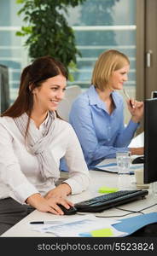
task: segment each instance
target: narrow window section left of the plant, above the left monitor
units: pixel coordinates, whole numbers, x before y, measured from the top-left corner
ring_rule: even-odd
[[[27,64],[24,38],[15,36],[21,26],[21,20],[17,16],[18,9],[15,1],[0,1],[0,64],[9,67],[10,103],[15,101],[21,69]]]

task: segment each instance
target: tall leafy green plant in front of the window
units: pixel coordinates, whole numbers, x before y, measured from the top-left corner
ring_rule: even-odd
[[[67,69],[76,67],[76,56],[81,55],[75,45],[73,28],[68,26],[64,14],[85,0],[16,0],[22,3],[18,15],[24,14],[17,36],[26,36],[25,46],[31,60],[51,55],[60,60]],[[72,75],[69,77],[72,80]]]

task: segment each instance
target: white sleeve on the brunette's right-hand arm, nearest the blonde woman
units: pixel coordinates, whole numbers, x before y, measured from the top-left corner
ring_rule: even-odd
[[[72,194],[78,194],[89,187],[90,174],[84,160],[82,148],[78,142],[78,137],[76,136],[75,131],[73,131],[73,127],[71,125],[69,125],[67,136],[69,138],[69,142],[67,145],[65,160],[69,170],[69,178],[64,181],[64,183],[69,184],[72,189]]]

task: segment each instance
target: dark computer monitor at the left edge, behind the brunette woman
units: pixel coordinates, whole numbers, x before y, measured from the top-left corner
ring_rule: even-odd
[[[0,64],[0,113],[9,108],[9,70]]]

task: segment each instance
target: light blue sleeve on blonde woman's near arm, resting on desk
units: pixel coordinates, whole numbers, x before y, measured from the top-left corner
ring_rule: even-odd
[[[127,147],[121,147],[120,144],[119,147],[116,147],[116,145],[101,145],[98,142],[95,127],[92,122],[90,106],[84,101],[79,100],[73,103],[69,121],[78,136],[88,166],[90,166],[92,161],[114,158],[117,151],[125,151],[128,149]],[[120,138],[117,139],[117,141],[118,140],[120,140]]]

